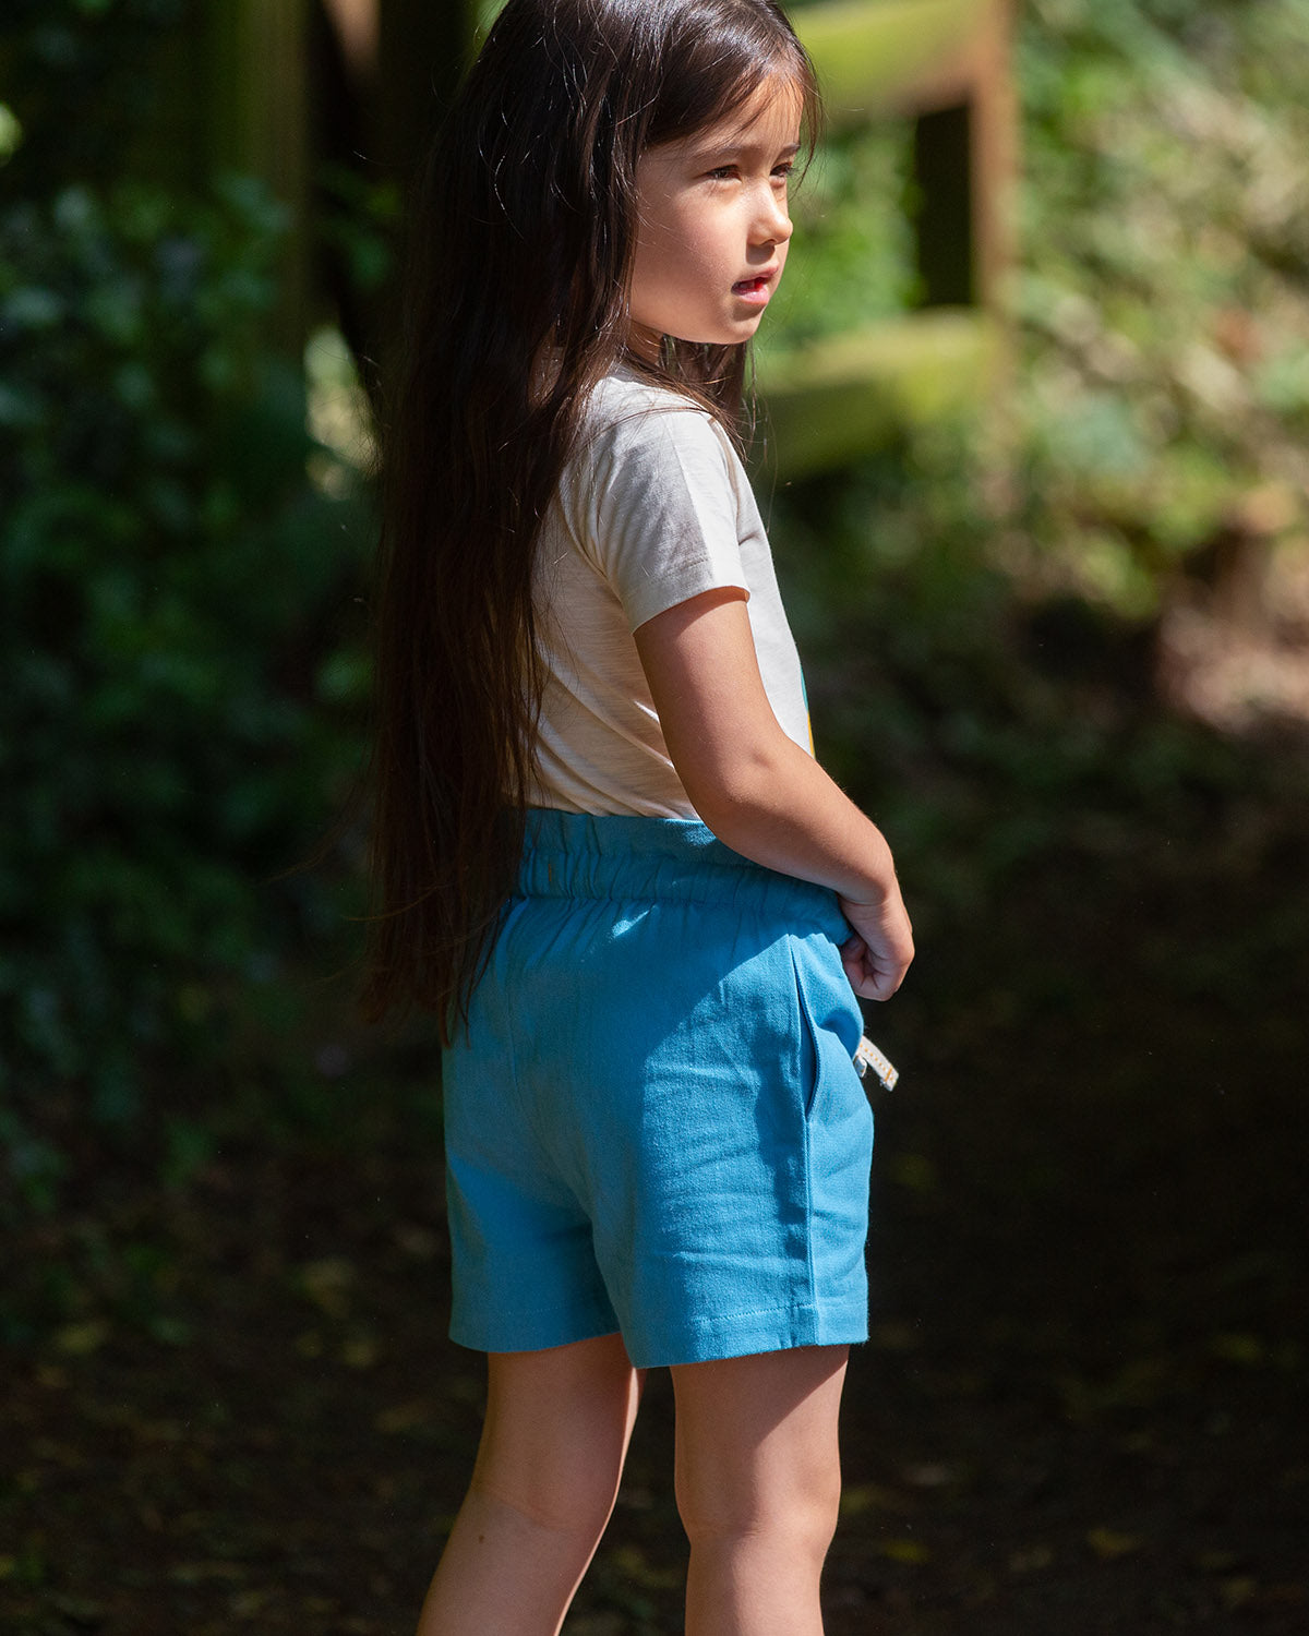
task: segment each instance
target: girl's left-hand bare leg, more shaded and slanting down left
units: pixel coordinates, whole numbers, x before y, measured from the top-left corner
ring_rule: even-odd
[[[491,1355],[473,1481],[419,1636],[556,1636],[614,1510],[641,1384],[619,1335]]]

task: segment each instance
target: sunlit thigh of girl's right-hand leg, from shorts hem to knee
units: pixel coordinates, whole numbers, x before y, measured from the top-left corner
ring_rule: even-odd
[[[834,1521],[848,1358],[848,1346],[797,1346],[672,1369],[689,1531],[766,1530],[815,1510]]]

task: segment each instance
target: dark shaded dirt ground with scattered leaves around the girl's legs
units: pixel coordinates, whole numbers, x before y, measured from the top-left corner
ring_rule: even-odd
[[[1235,795],[920,926],[831,1636],[1309,1629],[1306,926],[1302,807]],[[5,1633],[412,1628],[481,1394],[439,1114],[412,1042],[314,1050],[298,1134],[5,1245],[69,1286],[3,1356]],[[669,1410],[654,1376],[574,1636],[681,1629]]]

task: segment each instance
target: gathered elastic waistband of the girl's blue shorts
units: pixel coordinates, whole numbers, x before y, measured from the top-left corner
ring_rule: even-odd
[[[810,924],[843,942],[836,893],[741,857],[695,818],[596,818],[533,807],[519,895],[713,903]]]

